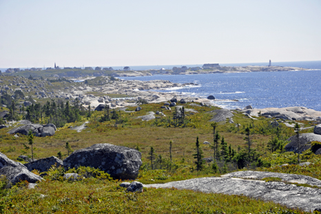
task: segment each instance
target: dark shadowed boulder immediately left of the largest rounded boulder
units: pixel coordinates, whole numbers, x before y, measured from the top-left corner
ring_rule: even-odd
[[[63,166],[63,161],[57,157],[47,157],[43,159],[37,159],[34,162],[30,162],[27,164],[24,164],[29,171],[33,171],[36,169],[37,171],[40,171],[41,173],[46,172],[50,169],[52,165],[55,165],[56,167]]]

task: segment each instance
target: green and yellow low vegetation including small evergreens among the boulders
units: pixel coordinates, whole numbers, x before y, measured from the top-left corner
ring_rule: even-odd
[[[34,110],[29,106],[28,118],[37,118],[41,123],[52,122],[59,127],[52,137],[33,138],[37,158],[68,157],[72,150],[110,143],[141,151],[143,165],[137,180],[143,184],[219,176],[243,169],[297,173],[321,179],[321,157],[313,154],[321,143],[313,142],[311,150],[300,155],[300,162],[311,164],[299,166],[298,155],[284,151],[284,139],[295,135],[293,128],[281,123],[273,127],[271,120],[265,117],[251,120],[235,112],[234,121],[240,124],[236,126],[224,121],[209,122],[211,115],[207,112],[216,107],[189,104],[182,104],[182,110],[163,110],[166,117],[159,115],[160,118],[151,121],[136,118],[161,110],[163,104],[141,104],[142,110],[134,113],[107,109],[90,112],[76,102],[70,105],[47,101],[42,106],[36,105],[33,105]],[[187,108],[198,113],[187,112]],[[127,110],[134,110],[134,107]],[[16,117],[21,118],[22,114],[17,111]],[[87,120],[90,123],[81,133],[68,128]],[[10,128],[0,130],[0,152],[17,159],[25,152],[23,144],[28,142],[28,136],[14,138],[7,134],[8,130]],[[311,130],[302,132],[308,131]],[[211,144],[202,144],[204,141]],[[212,157],[214,162],[204,162],[203,157]],[[303,213],[244,196],[154,188],[144,189],[143,193],[125,193],[125,189],[118,186],[120,181],[112,181],[107,175],[94,171],[91,172],[93,176],[87,176],[83,171],[90,174],[88,169],[70,169],[69,172],[80,173],[87,179],[64,181],[61,177],[66,171],[52,167],[37,188],[28,189],[22,184],[3,188],[1,194],[5,196],[0,204],[4,205],[0,207],[6,213]]]

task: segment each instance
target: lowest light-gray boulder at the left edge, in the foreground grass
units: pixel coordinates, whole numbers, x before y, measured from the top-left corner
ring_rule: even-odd
[[[17,184],[21,181],[27,181],[29,183],[36,183],[41,181],[41,177],[39,175],[35,175],[28,171],[27,168],[23,168],[20,166],[6,166],[0,169],[0,175],[5,175],[6,178],[12,183]]]

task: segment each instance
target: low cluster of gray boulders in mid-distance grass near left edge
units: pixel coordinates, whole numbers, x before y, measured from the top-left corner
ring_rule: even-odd
[[[47,124],[44,126],[41,124],[26,124],[13,128],[12,130],[8,131],[8,134],[12,135],[19,133],[21,135],[28,135],[29,130],[32,130],[32,133],[36,137],[46,137],[54,135],[56,126],[54,126],[54,124]]]

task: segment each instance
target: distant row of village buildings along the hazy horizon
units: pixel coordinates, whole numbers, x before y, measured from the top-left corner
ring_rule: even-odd
[[[173,67],[172,68],[172,71],[173,72],[185,72],[187,70],[207,70],[207,69],[214,69],[214,68],[219,68],[220,65],[219,64],[204,64],[202,68],[200,67],[192,67],[192,68],[187,68],[187,66],[182,66],[181,68],[178,68],[178,67]],[[73,69],[76,69],[76,70],[97,70],[97,71],[100,71],[100,70],[114,70],[114,68],[112,67],[109,67],[109,68],[101,68],[101,67],[96,67],[96,68],[92,68],[92,67],[84,67],[84,68],[81,68],[81,67],[64,67],[64,68],[60,68],[59,66],[56,66],[56,64],[54,64],[54,68],[26,68],[24,70],[31,70],[31,71],[41,71],[41,70],[73,70]],[[129,71],[129,70],[132,70],[129,66],[125,66],[123,69],[123,71]],[[13,73],[13,72],[21,72],[23,71],[23,69],[20,69],[20,68],[8,68],[6,70],[6,73],[10,74],[10,73]],[[161,72],[161,73],[166,73],[168,72],[169,70],[168,69],[165,69],[165,68],[161,68],[160,70],[157,70],[157,72]],[[1,71],[0,71],[1,72]],[[151,70],[152,72],[152,70]]]

